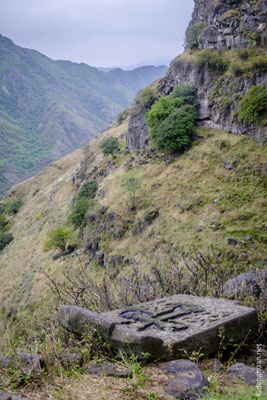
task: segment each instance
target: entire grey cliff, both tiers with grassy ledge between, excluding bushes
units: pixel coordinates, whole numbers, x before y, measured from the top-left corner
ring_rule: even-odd
[[[263,143],[266,126],[241,123],[237,111],[240,99],[253,85],[266,84],[266,11],[264,1],[195,0],[186,51],[173,60],[159,81],[159,94],[168,95],[179,83],[194,86],[200,103],[199,123]],[[211,53],[219,57],[226,68],[199,63],[205,52],[207,57]],[[146,111],[133,108],[127,133],[130,149],[145,147],[148,140]]]

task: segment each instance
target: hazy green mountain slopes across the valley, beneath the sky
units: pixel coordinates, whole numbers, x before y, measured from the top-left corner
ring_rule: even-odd
[[[84,146],[167,67],[102,72],[0,35],[0,196]]]

